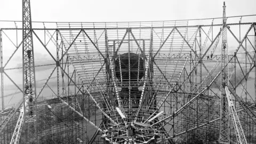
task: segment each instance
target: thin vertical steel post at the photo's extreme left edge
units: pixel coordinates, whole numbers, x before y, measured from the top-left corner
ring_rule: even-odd
[[[2,40],[2,29],[0,29],[0,53],[1,53],[1,93],[2,93],[2,110],[4,110],[4,67],[3,67],[3,40]]]

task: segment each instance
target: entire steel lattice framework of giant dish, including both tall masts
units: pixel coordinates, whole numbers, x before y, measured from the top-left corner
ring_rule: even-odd
[[[0,21],[15,23],[0,29],[0,143],[256,142],[256,15],[226,17],[224,9],[214,19],[31,22],[24,2],[27,20]],[[7,57],[5,44],[15,49]],[[24,64],[13,67],[21,45]],[[12,78],[19,69],[23,88]],[[5,99],[19,94],[4,91],[6,80],[24,93],[13,108]],[[49,91],[53,97],[42,96]],[[30,114],[36,121],[25,123]]]

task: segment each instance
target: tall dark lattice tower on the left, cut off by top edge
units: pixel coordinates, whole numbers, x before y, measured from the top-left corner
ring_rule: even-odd
[[[30,0],[23,0],[22,13],[22,60],[23,60],[23,127],[28,143],[36,143],[36,77],[32,35]]]

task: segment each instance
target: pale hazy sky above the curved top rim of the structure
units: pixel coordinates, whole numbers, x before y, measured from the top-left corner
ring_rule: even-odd
[[[31,1],[33,21],[154,21],[222,16],[223,0]],[[227,15],[255,14],[255,0],[227,0]],[[22,20],[22,1],[0,0],[0,20]]]

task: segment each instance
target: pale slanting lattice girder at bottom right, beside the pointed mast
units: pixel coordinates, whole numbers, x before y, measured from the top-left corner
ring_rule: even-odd
[[[231,117],[233,119],[233,124],[234,124],[234,127],[235,127],[237,142],[239,144],[243,144],[243,143],[247,144],[247,141],[246,141],[246,138],[245,138],[245,135],[244,135],[244,131],[243,131],[243,127],[242,127],[242,125],[239,121],[239,118],[237,116],[236,109],[235,109],[234,103],[232,101],[232,98],[231,98],[231,95],[230,95],[230,92],[229,92],[227,86],[225,87],[225,91],[226,91],[226,94],[227,94],[228,111],[229,111],[229,114],[231,114]]]

